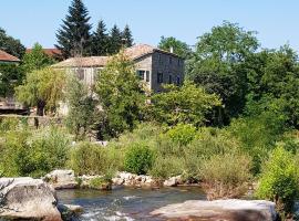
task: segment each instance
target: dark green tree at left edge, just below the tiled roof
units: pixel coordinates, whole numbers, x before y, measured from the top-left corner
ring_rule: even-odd
[[[23,81],[23,69],[16,64],[0,64],[0,96],[14,94],[14,87]]]

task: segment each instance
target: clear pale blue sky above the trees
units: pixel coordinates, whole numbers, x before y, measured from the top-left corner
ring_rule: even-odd
[[[196,38],[224,20],[258,31],[264,48],[289,43],[299,51],[298,0],[83,0],[93,27],[131,27],[135,42],[156,45],[162,35],[193,45]],[[55,32],[71,0],[1,0],[0,27],[21,40],[44,48],[55,43]]]

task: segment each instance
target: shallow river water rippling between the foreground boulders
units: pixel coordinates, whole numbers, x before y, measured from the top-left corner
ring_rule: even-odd
[[[186,200],[205,200],[198,187],[179,187],[151,189],[117,188],[112,191],[61,190],[58,191],[60,202],[79,204],[84,213],[80,221],[131,221],[162,220],[151,217],[150,212],[171,203]]]

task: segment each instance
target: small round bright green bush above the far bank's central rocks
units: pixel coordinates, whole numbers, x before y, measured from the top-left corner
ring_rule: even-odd
[[[125,170],[137,175],[146,175],[152,168],[154,152],[148,146],[143,144],[132,145],[125,154]]]

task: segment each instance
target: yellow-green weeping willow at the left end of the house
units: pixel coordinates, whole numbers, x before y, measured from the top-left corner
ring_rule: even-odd
[[[65,75],[45,67],[27,73],[23,84],[16,88],[18,101],[37,106],[37,115],[43,116],[44,108],[54,112],[63,97]]]

